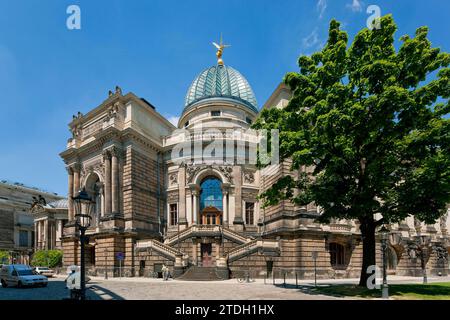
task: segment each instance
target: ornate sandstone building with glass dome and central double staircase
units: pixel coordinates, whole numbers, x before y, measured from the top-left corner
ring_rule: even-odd
[[[64,264],[80,261],[70,199],[85,187],[96,203],[86,250],[93,273],[118,267],[123,253],[125,275],[147,275],[164,263],[185,278],[227,278],[246,270],[253,276],[312,277],[317,252],[320,277],[359,276],[362,242],[354,221],[319,224],[314,203],[260,206],[261,191],[297,173],[289,170],[289,161],[264,171],[252,164],[254,135],[247,130],[258,117],[256,99],[247,80],[218,57],[217,65],[192,82],[178,128],[119,87],[86,115],[73,117],[72,138],[61,153],[69,190]],[[282,84],[263,108],[282,108],[290,96]],[[195,147],[193,156],[190,147],[183,150],[183,143],[192,141],[211,156],[199,157]],[[420,274],[420,263],[408,255],[411,239],[427,234],[447,252],[448,227],[446,218],[433,226],[413,218],[393,225],[390,272]],[[428,267],[447,272],[447,261],[443,265],[432,253]]]

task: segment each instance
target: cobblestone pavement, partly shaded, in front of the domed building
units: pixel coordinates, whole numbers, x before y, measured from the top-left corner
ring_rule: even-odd
[[[449,281],[450,278],[429,278],[429,282]],[[357,283],[358,279],[319,280],[318,285],[330,283]],[[238,283],[236,279],[226,281],[162,281],[161,279],[93,278],[87,285],[87,295],[91,300],[317,300],[336,299],[314,295],[296,288],[295,279],[288,279],[286,286],[278,279],[275,285],[261,279],[252,283]],[[390,283],[420,283],[421,278],[392,277]],[[299,286],[312,286],[311,280],[299,280]],[[2,288],[0,300],[61,300],[67,298],[64,277],[49,279],[46,288]]]

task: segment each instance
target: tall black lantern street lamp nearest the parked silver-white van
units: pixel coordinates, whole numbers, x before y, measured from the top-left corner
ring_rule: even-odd
[[[75,225],[80,230],[80,243],[81,243],[81,278],[80,278],[80,291],[81,300],[86,298],[86,281],[85,281],[85,261],[84,261],[84,244],[87,240],[85,236],[86,230],[91,225],[91,213],[94,210],[95,202],[89,197],[86,189],[80,190],[76,197],[72,197],[75,209]]]

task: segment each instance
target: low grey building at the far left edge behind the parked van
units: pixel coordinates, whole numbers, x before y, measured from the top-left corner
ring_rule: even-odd
[[[12,261],[29,263],[35,244],[33,199],[57,201],[55,193],[28,187],[21,183],[0,181],[0,250],[10,252]],[[1,263],[1,261],[0,261]]]

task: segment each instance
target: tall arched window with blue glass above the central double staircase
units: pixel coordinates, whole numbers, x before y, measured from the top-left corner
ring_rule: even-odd
[[[200,214],[202,224],[222,224],[222,182],[206,177],[200,184]]]

